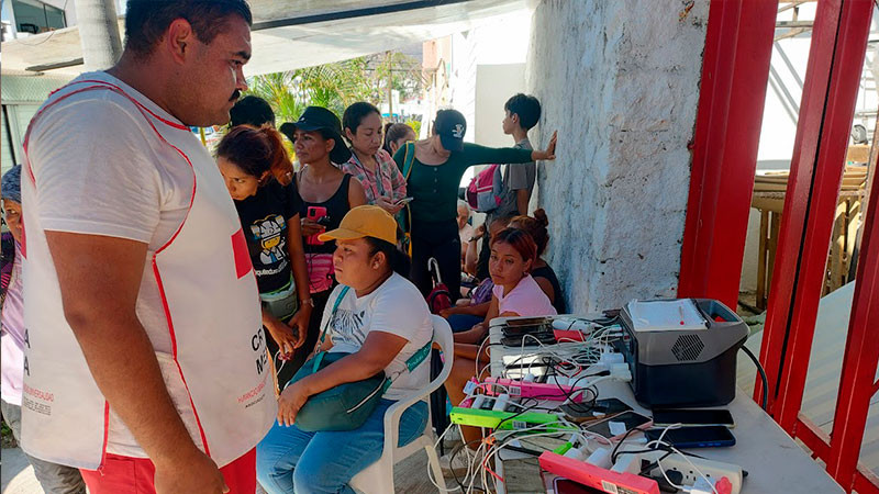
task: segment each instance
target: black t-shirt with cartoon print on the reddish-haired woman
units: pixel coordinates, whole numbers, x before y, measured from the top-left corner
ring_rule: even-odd
[[[260,187],[256,195],[234,201],[259,293],[283,288],[292,276],[287,246],[287,222],[299,214],[302,199],[296,187],[276,180]]]

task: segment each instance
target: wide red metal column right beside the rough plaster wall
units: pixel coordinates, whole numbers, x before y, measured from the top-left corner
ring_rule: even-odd
[[[678,296],[738,301],[777,9],[711,2]]]

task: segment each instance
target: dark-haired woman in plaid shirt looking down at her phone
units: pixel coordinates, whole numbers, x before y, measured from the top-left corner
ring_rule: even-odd
[[[351,143],[351,159],[342,169],[360,181],[369,204],[397,214],[403,207],[399,201],[405,198],[405,179],[391,155],[381,148],[381,113],[359,101],[345,110],[342,127]]]

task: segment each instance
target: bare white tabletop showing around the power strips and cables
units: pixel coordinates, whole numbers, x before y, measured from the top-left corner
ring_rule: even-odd
[[[587,316],[590,317],[590,316]],[[598,317],[592,315],[591,317]],[[491,373],[500,375],[503,360],[521,356],[521,348],[500,346],[501,326],[505,318],[492,319],[489,332],[491,347]],[[537,350],[526,347],[525,351]],[[598,384],[602,398],[617,397],[635,412],[650,416],[650,412],[635,402],[632,389],[626,383],[605,381]],[[545,402],[550,403],[550,402]],[[785,433],[750,397],[738,393],[726,405],[733,414],[736,445],[731,448],[708,448],[694,453],[717,461],[741,465],[748,472],[743,483],[745,494],[803,493],[831,494],[845,492],[827,472]],[[498,482],[498,493],[543,492],[539,467],[534,459],[504,460],[496,464],[507,485]]]

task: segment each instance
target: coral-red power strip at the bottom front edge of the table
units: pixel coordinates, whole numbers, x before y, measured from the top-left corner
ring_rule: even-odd
[[[546,451],[538,459],[541,468],[549,473],[570,479],[604,492],[626,494],[659,494],[655,480],[628,472],[614,472],[572,458]]]

